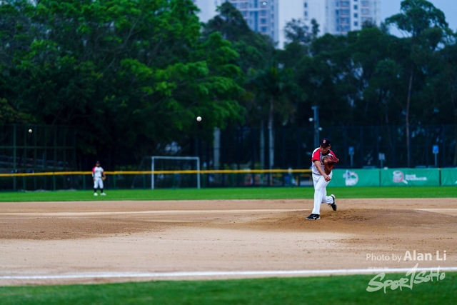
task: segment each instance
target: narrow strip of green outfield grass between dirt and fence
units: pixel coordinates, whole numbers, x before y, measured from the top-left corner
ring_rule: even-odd
[[[224,188],[224,189],[138,189],[110,190],[107,196],[93,191],[0,192],[3,201],[92,201],[92,200],[224,200],[224,199],[312,199],[311,187]],[[424,187],[328,187],[338,199],[358,198],[455,198],[456,186]]]

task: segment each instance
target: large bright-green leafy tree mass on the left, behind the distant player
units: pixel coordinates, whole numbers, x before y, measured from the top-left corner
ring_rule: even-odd
[[[122,161],[243,120],[238,54],[202,40],[190,0],[3,1],[0,96],[44,124],[76,126],[82,154]],[[202,135],[203,136],[203,135]]]

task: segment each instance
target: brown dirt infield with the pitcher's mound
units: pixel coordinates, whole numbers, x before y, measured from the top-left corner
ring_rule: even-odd
[[[457,199],[337,204],[307,221],[311,200],[0,203],[0,285],[457,266]],[[161,272],[190,275],[125,276]]]

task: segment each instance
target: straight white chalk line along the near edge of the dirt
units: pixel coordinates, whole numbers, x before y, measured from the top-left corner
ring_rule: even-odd
[[[49,274],[0,276],[6,279],[100,279],[100,278],[157,278],[157,277],[212,277],[212,276],[286,276],[286,275],[329,275],[329,274],[380,274],[408,272],[411,268],[392,269],[330,269],[330,270],[277,270],[277,271],[186,271],[186,272],[105,272],[94,274]],[[417,268],[416,271],[457,271],[457,267]]]

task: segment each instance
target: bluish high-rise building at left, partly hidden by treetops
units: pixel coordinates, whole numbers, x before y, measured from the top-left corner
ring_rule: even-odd
[[[278,41],[278,1],[281,0],[193,0],[200,9],[199,17],[202,22],[216,16],[216,7],[224,2],[231,2],[236,7],[248,26],[261,34],[271,36]],[[303,1],[303,0],[300,0]]]

